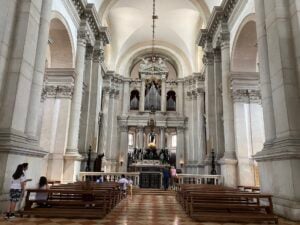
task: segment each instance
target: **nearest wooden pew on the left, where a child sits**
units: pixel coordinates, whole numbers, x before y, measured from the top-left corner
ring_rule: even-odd
[[[47,200],[30,198],[32,193],[47,193]],[[64,218],[103,218],[107,214],[107,192],[86,190],[28,189],[22,215]],[[46,207],[33,207],[34,203]]]

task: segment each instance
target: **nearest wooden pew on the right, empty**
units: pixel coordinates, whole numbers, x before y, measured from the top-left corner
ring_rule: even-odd
[[[190,216],[198,221],[274,222],[272,196],[259,193],[191,193]],[[264,204],[262,204],[264,202]],[[266,203],[266,204],[265,204]]]

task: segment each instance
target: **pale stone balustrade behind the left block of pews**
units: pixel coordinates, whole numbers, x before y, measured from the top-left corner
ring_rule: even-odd
[[[80,181],[86,181],[87,177],[93,177],[95,180],[102,176],[104,181],[109,182],[117,182],[121,175],[124,174],[127,179],[132,180],[132,184],[134,186],[139,186],[140,184],[140,173],[126,173],[126,172],[111,172],[111,173],[105,173],[105,172],[80,172],[79,173],[79,180]]]

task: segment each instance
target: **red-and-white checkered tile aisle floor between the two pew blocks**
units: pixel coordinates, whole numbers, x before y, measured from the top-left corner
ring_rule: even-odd
[[[193,222],[182,211],[174,195],[133,195],[124,199],[101,224],[187,225]]]

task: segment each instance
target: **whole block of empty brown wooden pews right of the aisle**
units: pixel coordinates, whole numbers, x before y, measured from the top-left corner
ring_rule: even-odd
[[[177,201],[197,221],[273,222],[272,196],[208,184],[178,184]]]

